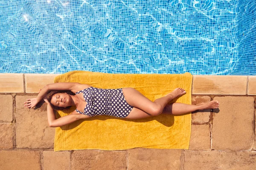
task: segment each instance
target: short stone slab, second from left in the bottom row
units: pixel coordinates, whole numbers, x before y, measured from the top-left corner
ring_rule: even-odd
[[[44,155],[44,170],[70,170],[69,151],[46,151]]]

